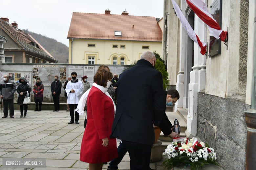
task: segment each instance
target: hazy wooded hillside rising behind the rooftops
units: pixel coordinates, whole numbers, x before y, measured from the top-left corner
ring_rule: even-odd
[[[31,32],[28,29],[23,29],[23,31],[32,35],[32,37],[39,42],[55,59],[58,59],[58,63],[67,63],[67,59],[69,57],[69,47],[67,47],[65,44],[57,42],[53,38]]]

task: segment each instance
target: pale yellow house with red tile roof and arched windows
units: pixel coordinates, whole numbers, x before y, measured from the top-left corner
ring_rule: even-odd
[[[127,65],[145,51],[162,55],[162,31],[155,17],[76,13],[68,33],[69,63]]]

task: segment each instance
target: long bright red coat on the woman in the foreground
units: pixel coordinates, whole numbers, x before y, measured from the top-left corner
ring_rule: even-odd
[[[115,110],[112,99],[92,87],[87,97],[87,125],[82,139],[80,161],[102,163],[118,157],[116,138],[110,138]],[[108,137],[107,147],[102,139]]]

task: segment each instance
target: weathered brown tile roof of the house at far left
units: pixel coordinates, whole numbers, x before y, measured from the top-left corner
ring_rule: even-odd
[[[0,19],[0,27],[4,28],[9,34],[11,34],[15,41],[18,42],[19,45],[21,45],[23,48],[32,48],[33,50],[49,55],[53,58],[53,56],[46,49],[44,49],[41,44],[35,41],[35,39],[30,34],[22,31],[21,29],[16,29],[16,27],[2,19]],[[35,42],[39,46],[39,49],[34,48],[34,45],[30,44],[31,42]]]

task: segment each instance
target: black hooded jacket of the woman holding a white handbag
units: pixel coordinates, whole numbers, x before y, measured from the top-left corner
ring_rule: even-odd
[[[21,80],[23,80],[25,83],[22,84],[22,83],[21,83]],[[28,84],[28,82],[27,82],[27,80],[26,80],[26,77],[21,77],[21,78],[19,79],[19,82],[20,82],[20,84],[19,84],[19,86],[18,86],[18,88],[17,88],[17,92],[19,93],[19,97],[18,97],[18,102],[17,102],[17,104],[18,104],[18,105],[23,105],[23,101],[24,101],[24,98],[25,98],[26,95],[27,95],[27,92],[29,92],[29,96],[30,96],[31,87],[30,87],[30,85]],[[23,95],[20,95],[21,92],[23,93]]]

